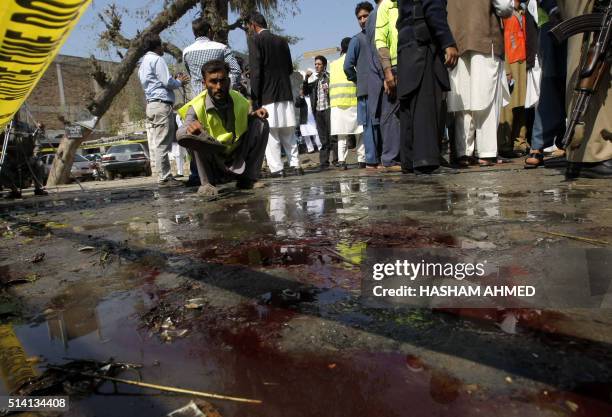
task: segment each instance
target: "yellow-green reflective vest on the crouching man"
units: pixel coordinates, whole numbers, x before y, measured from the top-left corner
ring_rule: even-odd
[[[228,132],[223,127],[223,121],[216,112],[209,113],[206,111],[206,96],[208,96],[208,91],[204,90],[196,98],[181,107],[178,113],[185,120],[189,107],[193,107],[202,127],[210,136],[225,145],[225,153],[229,155],[236,149],[240,137],[249,128],[249,101],[237,91],[230,90],[230,97],[234,103],[235,122],[234,132]]]

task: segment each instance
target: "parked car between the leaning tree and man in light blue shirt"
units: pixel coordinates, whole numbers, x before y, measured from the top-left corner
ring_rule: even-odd
[[[111,146],[102,156],[102,168],[109,180],[117,174],[151,175],[151,161],[140,143]]]

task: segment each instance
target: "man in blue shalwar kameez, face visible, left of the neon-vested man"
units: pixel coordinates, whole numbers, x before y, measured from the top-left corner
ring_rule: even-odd
[[[368,42],[366,25],[374,7],[364,1],[355,8],[355,16],[361,27],[361,32],[351,39],[344,61],[344,72],[349,81],[357,83],[357,120],[363,126],[363,144],[365,147],[365,166],[375,169],[378,166],[378,132],[375,131],[372,117],[368,109],[368,79],[370,60],[372,59],[372,43]]]

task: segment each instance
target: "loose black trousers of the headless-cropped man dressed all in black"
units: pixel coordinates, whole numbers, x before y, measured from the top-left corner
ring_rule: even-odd
[[[410,53],[406,48],[402,53]],[[429,53],[420,85],[400,100],[400,157],[402,168],[440,165],[440,138],[444,134],[443,88],[434,73],[434,59]],[[402,73],[400,77],[415,76]]]

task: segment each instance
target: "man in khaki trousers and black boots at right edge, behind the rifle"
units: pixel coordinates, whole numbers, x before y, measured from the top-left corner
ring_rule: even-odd
[[[595,8],[599,8],[599,11],[605,11],[609,1],[558,0],[558,3],[562,16],[571,19],[581,14],[590,13]],[[588,50],[589,43],[585,44],[583,42],[583,36],[574,36],[568,41],[568,94],[573,94],[580,71],[580,59],[584,57]],[[599,89],[591,99],[584,118],[584,131],[579,132],[577,129],[574,140],[568,146],[568,178],[612,178],[611,79],[612,76],[608,70],[602,76]]]

